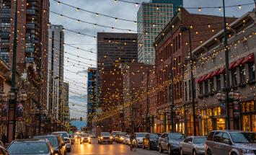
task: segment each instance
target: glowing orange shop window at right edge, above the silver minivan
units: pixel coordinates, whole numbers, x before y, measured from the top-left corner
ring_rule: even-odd
[[[241,103],[242,130],[256,132],[255,101]]]

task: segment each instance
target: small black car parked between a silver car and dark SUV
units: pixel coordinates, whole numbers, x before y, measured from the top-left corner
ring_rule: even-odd
[[[157,149],[159,136],[156,133],[147,133],[143,138],[142,149]]]

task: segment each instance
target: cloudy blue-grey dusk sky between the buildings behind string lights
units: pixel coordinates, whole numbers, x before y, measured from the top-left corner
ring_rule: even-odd
[[[112,17],[118,17],[123,19],[131,19],[136,21],[137,12],[139,9],[135,4],[128,4],[122,1],[114,2],[113,0],[61,0],[63,3],[70,4],[71,6],[76,6],[81,9],[87,9],[91,12],[97,12],[99,14],[107,14]],[[138,0],[127,0],[141,3]],[[226,16],[228,17],[241,17],[243,14],[251,11],[255,5],[252,3],[254,0],[228,0],[226,1],[226,6],[235,6],[226,8]],[[216,9],[202,9],[198,12],[198,9],[188,9],[189,12],[195,14],[212,14],[222,16],[223,12],[219,11],[219,6],[222,6],[222,0],[184,0],[184,7],[204,7],[204,6],[216,6]],[[241,9],[238,8],[242,4],[251,4],[247,6],[242,6]],[[221,9],[223,10],[223,9]],[[108,17],[96,17],[95,14],[88,12],[83,12],[65,6],[63,4],[57,3],[57,1],[50,0],[50,11],[56,12],[58,14],[63,14],[75,19],[80,19],[86,22],[95,23],[97,25],[106,25],[110,27],[118,27],[121,29],[128,29],[136,31],[136,25],[133,22],[123,22]],[[88,25],[83,22],[76,22],[75,20],[68,19],[66,17],[60,17],[57,14],[50,13],[50,23],[53,25],[63,25],[64,28],[72,30],[74,32],[81,32],[87,35],[97,36],[97,32],[128,32],[122,30],[111,30],[105,27],[94,27],[94,25]],[[97,60],[97,39],[93,37],[87,37],[84,35],[78,35],[74,32],[65,32],[65,43],[74,47],[79,47],[84,50],[92,51],[93,53],[86,52],[84,50],[78,50],[76,48],[71,48],[65,45],[65,61],[64,61],[64,79],[69,82],[70,85],[70,100],[69,105],[71,108],[71,118],[78,118],[83,116],[86,117],[86,101],[87,99],[87,68],[96,67]],[[71,56],[71,54],[74,56]],[[77,57],[79,56],[79,57]],[[83,57],[83,58],[81,58]],[[89,61],[87,59],[92,59]],[[76,61],[75,61],[76,60]],[[68,62],[69,61],[69,62]],[[75,64],[74,64],[75,63]],[[72,105],[74,104],[74,106]]]

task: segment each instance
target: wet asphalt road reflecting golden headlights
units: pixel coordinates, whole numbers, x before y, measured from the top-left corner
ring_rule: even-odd
[[[124,155],[124,154],[139,154],[139,155],[153,155],[153,154],[160,154],[158,151],[154,150],[144,150],[144,149],[137,149],[137,151],[130,151],[130,148],[127,145],[120,144],[120,143],[113,143],[113,144],[98,144],[97,138],[92,138],[92,144],[83,143],[80,144],[79,141],[76,141],[74,145],[72,145],[71,153],[72,155],[76,154],[103,154],[103,155]]]

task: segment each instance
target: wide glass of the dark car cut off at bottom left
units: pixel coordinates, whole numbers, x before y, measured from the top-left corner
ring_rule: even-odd
[[[18,142],[12,143],[8,148],[9,154],[48,154],[46,143],[40,142]]]

